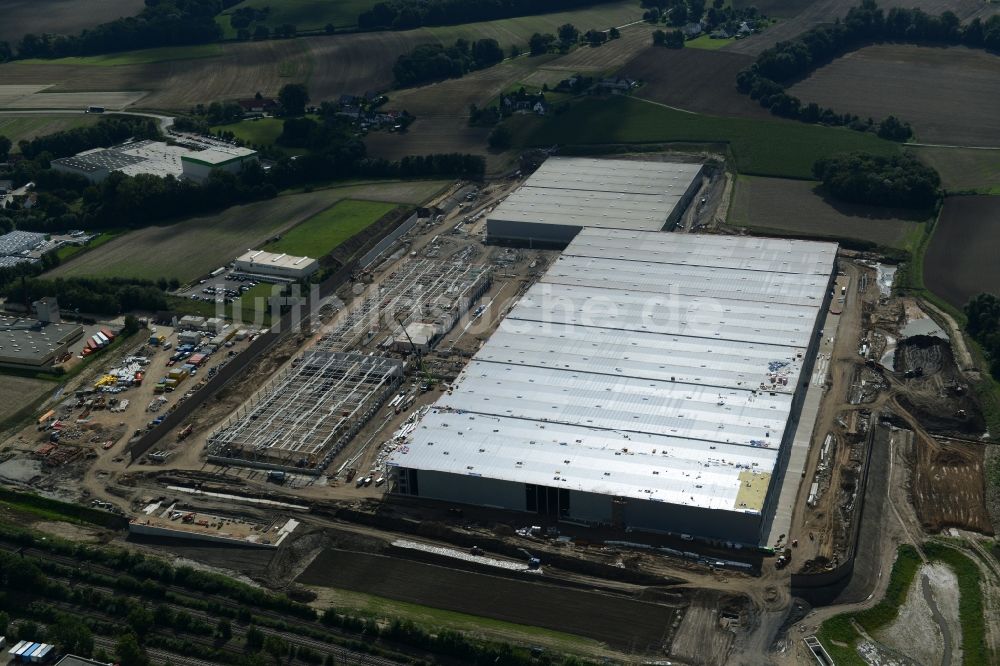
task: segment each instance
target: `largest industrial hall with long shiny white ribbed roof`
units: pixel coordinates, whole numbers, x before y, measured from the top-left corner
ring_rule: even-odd
[[[394,492],[759,544],[836,250],[583,229],[392,453]]]

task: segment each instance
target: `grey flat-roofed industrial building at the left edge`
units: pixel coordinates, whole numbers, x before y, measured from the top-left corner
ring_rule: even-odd
[[[79,324],[0,316],[0,366],[45,370],[82,337]]]

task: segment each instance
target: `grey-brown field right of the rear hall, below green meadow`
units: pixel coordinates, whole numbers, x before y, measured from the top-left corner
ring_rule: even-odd
[[[830,202],[808,180],[740,176],[729,207],[729,224],[794,236],[854,239],[911,249],[923,235],[922,221],[906,213]]]

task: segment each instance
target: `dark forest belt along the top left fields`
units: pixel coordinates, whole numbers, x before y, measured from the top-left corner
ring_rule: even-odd
[[[182,46],[217,41],[222,30],[215,16],[239,0],[146,0],[137,16],[119,18],[78,35],[26,34],[17,45],[18,58],[62,58],[156,46]],[[0,55],[11,49],[0,46]]]

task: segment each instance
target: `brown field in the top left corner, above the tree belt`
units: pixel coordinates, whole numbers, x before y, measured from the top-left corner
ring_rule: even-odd
[[[0,42],[16,44],[29,32],[80,32],[122,16],[135,16],[143,6],[143,0],[4,0]]]

